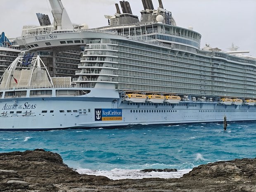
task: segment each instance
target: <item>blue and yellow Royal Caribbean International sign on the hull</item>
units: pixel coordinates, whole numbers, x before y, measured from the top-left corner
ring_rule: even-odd
[[[95,109],[95,121],[121,121],[122,109]]]

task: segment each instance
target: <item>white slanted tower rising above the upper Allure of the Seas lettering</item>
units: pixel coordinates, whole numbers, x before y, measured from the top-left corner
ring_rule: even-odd
[[[52,16],[54,18],[55,30],[72,29],[73,24],[69,19],[66,9],[63,7],[61,0],[49,0],[52,7]]]

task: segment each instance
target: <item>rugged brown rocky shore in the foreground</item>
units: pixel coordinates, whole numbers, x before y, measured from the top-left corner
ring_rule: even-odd
[[[175,171],[175,170],[174,170]],[[110,180],[80,175],[43,149],[0,153],[1,192],[256,192],[256,159],[193,168],[179,179]]]

